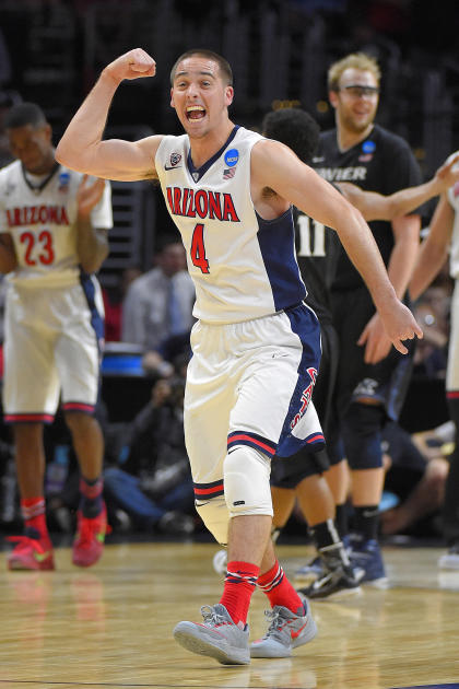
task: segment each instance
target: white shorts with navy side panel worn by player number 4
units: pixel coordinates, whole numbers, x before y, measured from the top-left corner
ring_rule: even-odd
[[[316,315],[301,304],[231,325],[198,322],[185,392],[185,439],[195,494],[223,494],[228,448],[289,457],[323,435],[311,402],[320,362]]]

